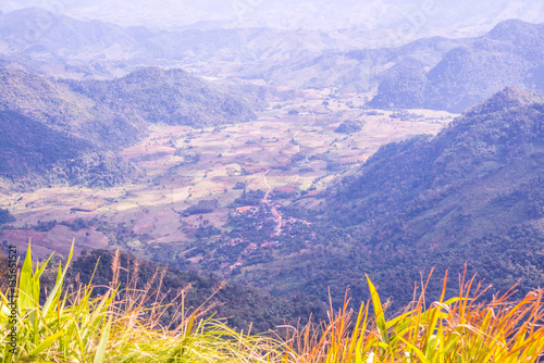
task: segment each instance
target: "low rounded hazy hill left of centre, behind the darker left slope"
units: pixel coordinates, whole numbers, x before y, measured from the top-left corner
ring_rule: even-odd
[[[182,70],[148,67],[113,80],[66,83],[72,91],[123,114],[132,123],[141,120],[201,127],[256,117],[239,95],[233,96]]]

